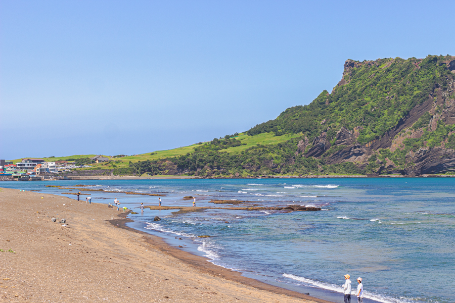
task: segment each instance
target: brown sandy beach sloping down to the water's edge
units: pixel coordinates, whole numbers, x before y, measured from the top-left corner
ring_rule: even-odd
[[[1,188],[0,205],[2,302],[328,302],[215,266],[103,204]]]

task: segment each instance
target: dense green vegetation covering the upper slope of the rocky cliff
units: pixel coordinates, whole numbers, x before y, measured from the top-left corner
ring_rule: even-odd
[[[277,119],[251,128],[248,134],[302,132],[311,139],[327,131],[333,138],[342,126],[348,130],[362,126],[357,141],[370,142],[424,103],[436,83],[446,86],[452,77],[443,63],[446,60],[442,56],[348,60],[343,79],[332,93],[325,90],[309,105],[289,108]]]

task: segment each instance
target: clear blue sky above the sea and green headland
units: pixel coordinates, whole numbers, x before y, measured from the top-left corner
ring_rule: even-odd
[[[140,154],[311,102],[347,59],[455,55],[453,1],[0,1],[0,159]]]

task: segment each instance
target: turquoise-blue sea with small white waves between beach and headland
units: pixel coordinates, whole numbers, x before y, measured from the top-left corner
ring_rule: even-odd
[[[62,194],[68,189],[45,187],[49,184],[118,191],[86,193],[105,204],[117,197],[139,213],[129,216],[132,227],[270,284],[341,301],[348,273],[353,286],[362,277],[366,302],[455,301],[455,179],[87,180],[0,182],[0,187],[75,197]],[[163,206],[191,206],[183,197],[193,195],[197,206],[215,206],[208,203],[213,198],[314,205],[323,211],[207,210],[174,216],[146,209],[141,214],[141,202],[158,205],[158,197],[122,191],[163,193]],[[153,222],[155,216],[162,220]]]

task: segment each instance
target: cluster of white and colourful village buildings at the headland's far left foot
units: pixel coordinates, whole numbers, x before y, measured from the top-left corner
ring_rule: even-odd
[[[91,163],[102,163],[110,158],[97,155],[90,158]],[[75,161],[58,160],[47,162],[40,158],[23,158],[21,162],[0,160],[0,178],[16,181],[60,180],[65,177],[58,173],[68,172],[75,168],[88,168],[90,165],[76,165]]]

